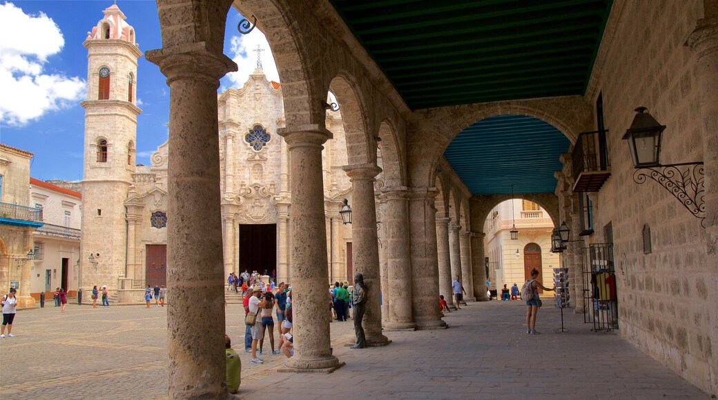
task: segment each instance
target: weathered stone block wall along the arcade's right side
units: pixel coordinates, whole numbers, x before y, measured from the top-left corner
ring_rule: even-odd
[[[621,1],[614,5],[592,78],[602,92],[612,176],[596,196],[596,233],[612,224],[617,263],[620,332],[646,353],[709,391],[710,293],[715,265],[707,262],[707,235],[666,189],[635,184],[621,138],[633,109],[645,106],[667,128],[661,163],[701,161],[695,55],[685,42],[701,17],[701,1]],[[653,252],[643,254],[642,230],[651,227]]]

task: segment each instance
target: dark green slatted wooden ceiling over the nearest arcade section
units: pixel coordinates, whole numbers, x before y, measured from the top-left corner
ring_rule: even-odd
[[[330,0],[412,110],[583,95],[612,0]]]

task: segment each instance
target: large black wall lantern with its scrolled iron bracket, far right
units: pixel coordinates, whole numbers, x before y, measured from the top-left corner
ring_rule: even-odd
[[[658,123],[646,110],[645,107],[635,109],[633,123],[623,135],[623,140],[628,141],[633,167],[636,168],[633,181],[643,184],[647,178],[651,178],[658,182],[701,220],[702,227],[706,227],[703,162],[662,165],[659,161],[661,134],[666,125]]]

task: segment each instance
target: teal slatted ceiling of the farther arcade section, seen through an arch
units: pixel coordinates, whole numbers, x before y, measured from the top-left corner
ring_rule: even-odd
[[[553,125],[524,115],[480,120],[444,151],[472,194],[553,193],[559,156],[570,142]]]

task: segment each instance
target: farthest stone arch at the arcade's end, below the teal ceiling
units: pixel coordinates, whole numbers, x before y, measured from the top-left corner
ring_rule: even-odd
[[[489,212],[503,201],[510,200],[510,194],[492,194],[482,196],[472,196],[470,199],[471,208],[471,230],[472,232],[482,232],[484,222],[489,216]],[[538,204],[549,213],[551,222],[554,227],[561,224],[559,214],[559,199],[554,194],[538,193],[538,194],[515,194],[513,199],[531,200]]]

